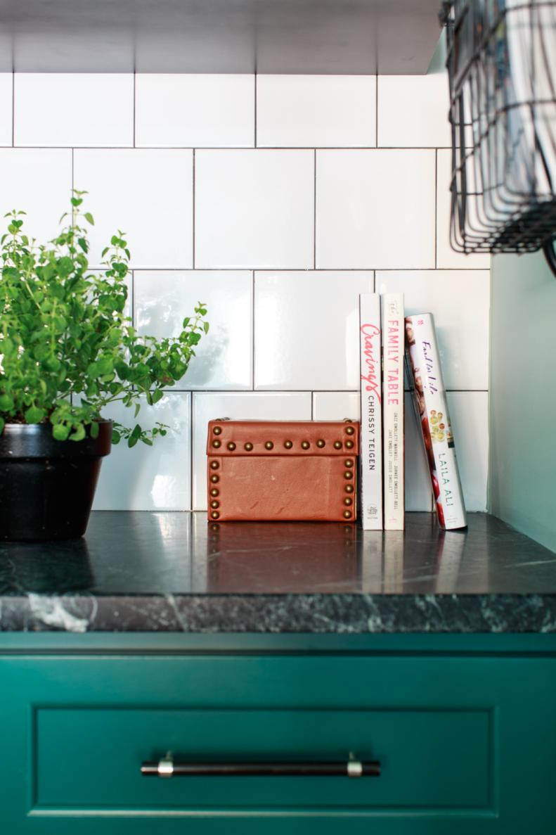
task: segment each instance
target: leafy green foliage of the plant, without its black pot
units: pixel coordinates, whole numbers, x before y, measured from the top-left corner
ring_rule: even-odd
[[[88,266],[83,195],[73,191],[72,211],[56,238],[38,245],[23,232],[24,212],[5,215],[0,239],[0,433],[6,423],[51,423],[58,441],[99,434],[110,403],[122,402],[137,418],[141,402],[153,405],[180,380],[209,330],[206,307],[183,321],[178,337],[139,334],[124,315],[130,254],[124,232],[102,254],[103,270]],[[113,443],[127,438],[152,444],[167,427],[145,430],[114,423]]]

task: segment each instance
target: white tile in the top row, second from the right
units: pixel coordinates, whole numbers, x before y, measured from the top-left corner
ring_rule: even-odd
[[[372,148],[373,75],[258,75],[257,146]]]

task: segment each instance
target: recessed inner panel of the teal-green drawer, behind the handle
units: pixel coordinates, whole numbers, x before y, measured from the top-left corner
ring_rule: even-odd
[[[476,710],[36,711],[39,808],[483,809],[493,717]],[[379,777],[144,777],[144,761],[378,761]]]

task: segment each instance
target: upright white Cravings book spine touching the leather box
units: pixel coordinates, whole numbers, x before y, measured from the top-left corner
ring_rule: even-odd
[[[359,296],[361,357],[361,526],[382,530],[381,299]]]

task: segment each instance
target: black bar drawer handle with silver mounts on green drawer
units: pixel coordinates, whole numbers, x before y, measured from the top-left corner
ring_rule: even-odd
[[[380,762],[143,762],[145,777],[380,777]]]

